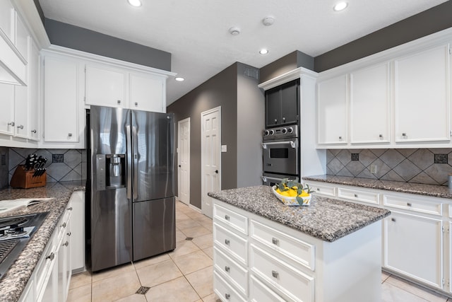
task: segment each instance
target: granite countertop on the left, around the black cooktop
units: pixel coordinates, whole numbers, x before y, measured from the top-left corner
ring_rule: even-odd
[[[30,207],[1,214],[1,217],[49,212],[42,226],[36,231],[22,253],[0,280],[0,301],[16,302],[20,298],[38,260],[44,252],[57,222],[64,213],[66,204],[74,191],[85,190],[85,182],[50,182],[45,187],[32,189],[0,190],[0,200],[20,198],[54,198]]]

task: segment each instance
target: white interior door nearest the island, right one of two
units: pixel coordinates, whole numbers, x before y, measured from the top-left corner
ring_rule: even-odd
[[[221,107],[201,112],[201,211],[212,217],[208,192],[221,190]]]

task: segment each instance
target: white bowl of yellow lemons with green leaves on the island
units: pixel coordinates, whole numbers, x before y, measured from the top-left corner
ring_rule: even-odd
[[[287,206],[309,206],[311,203],[311,189],[309,185],[303,187],[299,182],[284,178],[279,185],[272,187],[273,194]]]

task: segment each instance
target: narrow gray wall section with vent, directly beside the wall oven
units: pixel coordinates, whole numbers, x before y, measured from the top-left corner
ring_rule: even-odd
[[[257,85],[258,70],[237,64],[237,187],[262,184],[265,95]]]

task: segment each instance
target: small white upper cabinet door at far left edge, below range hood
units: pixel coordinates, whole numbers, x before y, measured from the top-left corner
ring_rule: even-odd
[[[0,133],[14,134],[16,122],[14,122],[14,85],[0,83],[1,110]]]

